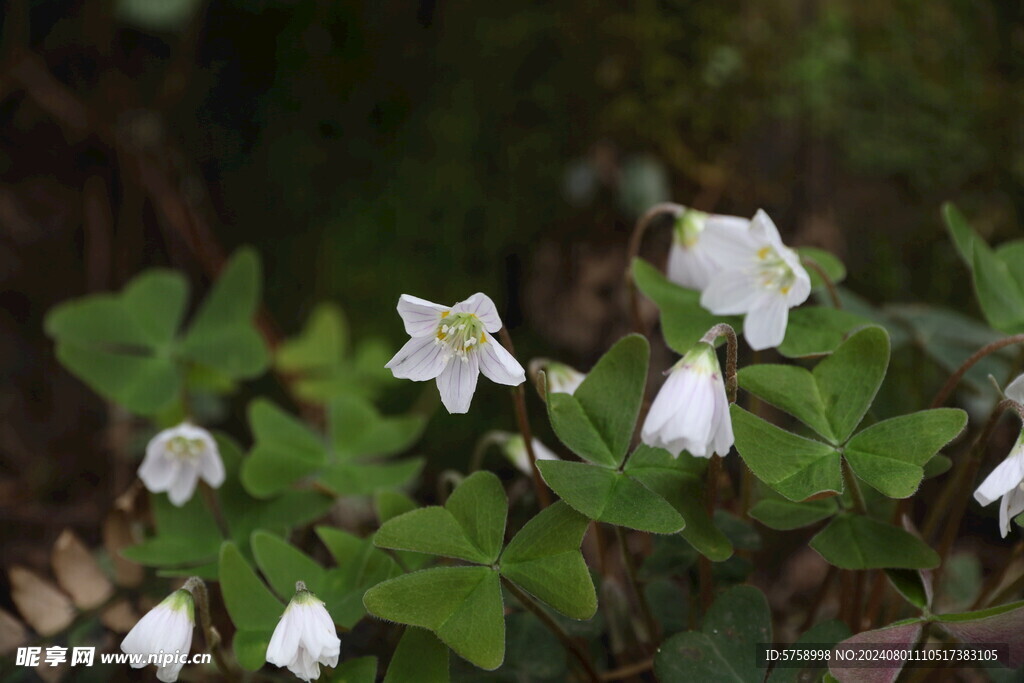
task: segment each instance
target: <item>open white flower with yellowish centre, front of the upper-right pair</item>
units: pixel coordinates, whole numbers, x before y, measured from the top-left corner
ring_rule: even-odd
[[[778,346],[785,338],[790,309],[811,293],[800,257],[782,244],[764,211],[758,211],[741,238],[717,255],[722,269],[700,295],[700,305],[716,315],[745,313],[743,336],[751,348]]]

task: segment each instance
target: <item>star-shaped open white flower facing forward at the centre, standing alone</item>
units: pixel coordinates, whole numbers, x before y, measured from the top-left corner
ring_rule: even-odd
[[[402,294],[398,314],[412,337],[386,368],[398,379],[437,380],[449,413],[465,413],[484,377],[509,386],[526,381],[522,366],[494,338],[502,329],[495,302],[476,293],[451,308]]]

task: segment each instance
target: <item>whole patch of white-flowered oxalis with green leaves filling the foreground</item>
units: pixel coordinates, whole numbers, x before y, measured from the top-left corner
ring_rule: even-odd
[[[986,671],[1013,680],[1024,438],[1008,451],[1001,435],[1024,414],[1024,241],[992,248],[953,207],[944,219],[984,324],[868,304],[764,212],[657,205],[629,245],[636,332],[586,373],[524,367],[483,293],[402,295],[400,348],[353,342],[329,304],[271,348],[249,250],[190,316],[185,278],[163,269],[65,302],[46,322],[56,355],[137,416],[138,481],[101,552],[58,542],[59,588],[12,568],[14,602],[41,646],[115,633],[126,653],[212,655],[132,665],[162,681],[924,680],[906,659],[951,643],[1004,644]],[[663,269],[637,254],[665,227]],[[652,343],[673,359],[651,367]],[[267,372],[279,398],[217,429]],[[407,454],[429,453],[429,401],[382,414],[388,383],[428,383],[461,414],[481,375],[510,387],[507,423],[466,433],[466,471],[420,485],[425,460]],[[972,499],[1016,539],[998,564],[954,552]],[[802,592],[776,590],[794,575]],[[803,671],[759,657],[793,642],[902,654]]]

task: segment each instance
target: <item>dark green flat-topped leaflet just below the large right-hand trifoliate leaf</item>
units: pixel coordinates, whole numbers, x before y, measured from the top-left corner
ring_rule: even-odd
[[[860,515],[837,516],[811,548],[841,569],[933,569],[938,554],[924,541],[899,527]]]

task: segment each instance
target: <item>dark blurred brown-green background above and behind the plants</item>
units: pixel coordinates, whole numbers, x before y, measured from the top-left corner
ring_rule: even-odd
[[[280,334],[332,300],[394,348],[400,293],[481,290],[524,362],[586,369],[628,328],[626,243],[655,202],[764,208],[867,299],[965,311],[939,205],[991,242],[1024,209],[1016,0],[2,8],[0,522],[5,555],[43,563],[65,525],[95,541],[133,476],[43,316],[144,267],[201,290],[252,244]],[[427,455],[513,428],[504,391],[478,395]]]

